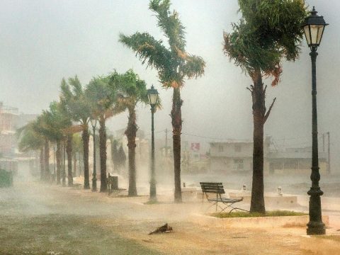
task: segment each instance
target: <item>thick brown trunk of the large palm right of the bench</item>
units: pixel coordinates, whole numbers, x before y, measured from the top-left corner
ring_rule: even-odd
[[[253,183],[251,188],[250,212],[265,213],[263,198],[263,125],[266,114],[266,91],[263,89],[261,71],[254,75],[253,98],[254,150],[253,150]]]

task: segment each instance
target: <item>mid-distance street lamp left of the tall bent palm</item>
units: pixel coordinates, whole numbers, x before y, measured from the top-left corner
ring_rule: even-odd
[[[158,101],[158,91],[151,86],[151,89],[147,90],[147,98],[151,106],[151,179],[150,179],[150,198],[151,202],[157,201],[156,196],[156,179],[154,174],[154,108]]]

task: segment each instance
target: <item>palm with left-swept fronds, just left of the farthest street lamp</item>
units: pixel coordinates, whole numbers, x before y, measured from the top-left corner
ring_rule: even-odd
[[[81,140],[83,141],[84,161],[84,189],[90,188],[89,179],[89,120],[91,118],[91,105],[86,98],[84,89],[77,77],[69,78],[67,83],[62,79],[62,98],[72,120],[81,123]]]

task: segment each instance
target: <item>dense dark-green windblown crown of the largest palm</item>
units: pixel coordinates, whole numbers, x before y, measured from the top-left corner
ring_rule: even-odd
[[[303,0],[239,0],[242,18],[224,33],[224,52],[250,77],[256,69],[280,81],[281,61],[296,60],[300,53],[302,22],[307,16]]]

